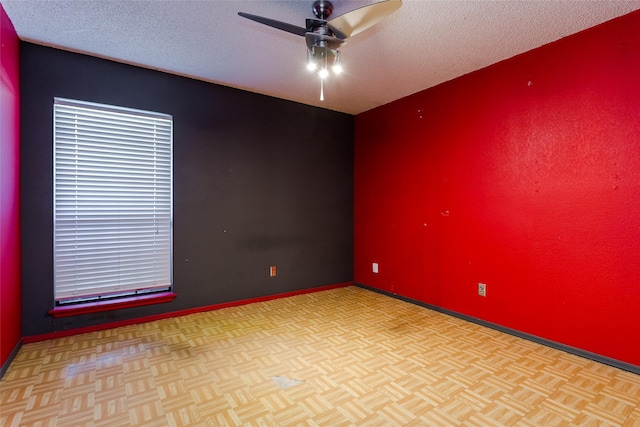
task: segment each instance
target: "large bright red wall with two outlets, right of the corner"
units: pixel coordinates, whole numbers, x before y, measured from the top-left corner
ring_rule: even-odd
[[[355,281],[640,365],[638,28],[358,115]]]

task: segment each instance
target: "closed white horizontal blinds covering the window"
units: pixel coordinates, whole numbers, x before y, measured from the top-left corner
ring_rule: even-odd
[[[54,100],[57,303],[171,288],[173,120]]]

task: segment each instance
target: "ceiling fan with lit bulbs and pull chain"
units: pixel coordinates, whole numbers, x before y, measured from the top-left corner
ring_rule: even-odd
[[[382,21],[401,5],[401,0],[383,0],[328,20],[333,12],[333,4],[329,0],[316,0],[311,7],[315,18],[307,18],[304,27],[250,13],[238,12],[238,15],[278,30],[303,36],[307,42],[307,68],[320,76],[320,100],[324,101],[324,79],[329,76],[329,70],[331,69],[335,74],[342,71],[338,50],[340,45],[348,37]]]

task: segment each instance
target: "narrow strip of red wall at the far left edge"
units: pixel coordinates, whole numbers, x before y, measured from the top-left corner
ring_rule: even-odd
[[[0,5],[0,366],[21,338],[19,41]]]

